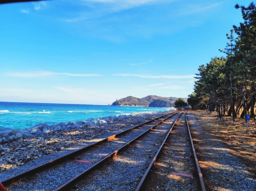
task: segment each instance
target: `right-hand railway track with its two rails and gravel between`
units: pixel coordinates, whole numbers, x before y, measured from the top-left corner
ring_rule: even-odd
[[[137,186],[139,190],[206,190],[186,114],[166,136]]]

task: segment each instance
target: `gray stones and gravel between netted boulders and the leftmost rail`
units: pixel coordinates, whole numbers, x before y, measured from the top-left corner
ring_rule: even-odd
[[[0,180],[14,176],[167,112],[135,115],[101,126],[70,128],[0,145]],[[28,144],[29,143],[29,144]],[[63,144],[64,143],[64,144]],[[22,146],[26,145],[26,146]],[[34,152],[40,150],[39,152]],[[47,150],[49,152],[43,152]],[[4,151],[4,152],[3,152]],[[4,153],[1,155],[1,153]],[[26,159],[29,157],[29,159]],[[17,165],[20,158],[22,161]]]

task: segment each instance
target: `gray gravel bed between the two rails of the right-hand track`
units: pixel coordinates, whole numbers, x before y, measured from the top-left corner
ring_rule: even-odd
[[[177,176],[173,175],[173,172],[193,175],[193,177]],[[151,170],[150,178],[145,187],[146,191],[198,191],[193,152],[185,125],[185,114],[181,115],[173,127],[160,157]]]

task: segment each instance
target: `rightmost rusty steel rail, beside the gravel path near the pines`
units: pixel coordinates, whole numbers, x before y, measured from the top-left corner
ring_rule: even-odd
[[[190,135],[190,143],[191,143],[192,151],[193,151],[193,155],[194,155],[194,162],[195,162],[195,165],[196,165],[197,178],[198,178],[198,181],[197,181],[197,183],[198,183],[198,189],[199,189],[200,191],[206,191],[206,188],[205,188],[205,185],[204,185],[204,180],[203,180],[203,175],[202,175],[202,172],[201,172],[199,163],[198,163],[198,159],[197,159],[197,156],[196,156],[195,147],[194,147],[193,140],[192,140],[192,136],[191,136],[191,133],[190,133],[190,128],[189,128],[189,126],[188,126],[187,112],[186,112],[186,114],[185,114],[185,118],[186,118],[186,126],[187,126],[187,130],[188,130],[188,134]]]

